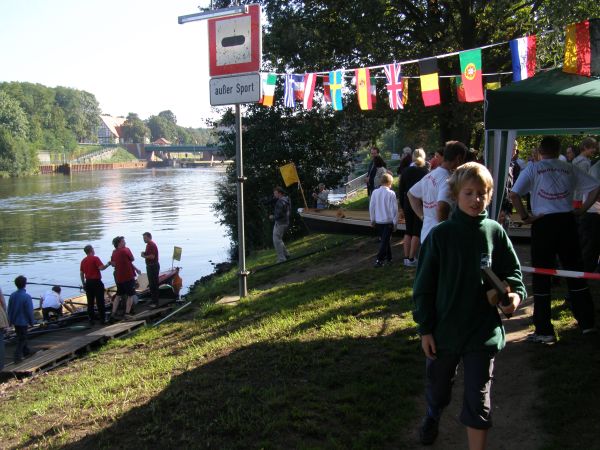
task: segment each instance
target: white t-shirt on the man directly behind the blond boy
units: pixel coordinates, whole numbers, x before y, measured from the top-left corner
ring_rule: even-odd
[[[448,184],[448,178],[450,178],[450,172],[443,167],[438,167],[421,178],[421,180],[408,191],[411,195],[421,199],[423,202],[421,242],[425,241],[425,238],[431,229],[438,223],[437,202],[443,200],[449,205],[452,205],[452,200],[448,196],[448,190],[442,189],[445,184]]]

